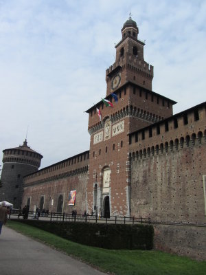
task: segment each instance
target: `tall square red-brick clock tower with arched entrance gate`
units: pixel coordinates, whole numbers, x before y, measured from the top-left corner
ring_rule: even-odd
[[[104,217],[130,215],[128,133],[170,117],[176,103],[152,91],[153,67],[144,61],[145,43],[138,34],[137,23],[129,18],[115,46],[115,63],[106,69],[106,99],[114,107],[102,101],[95,104],[101,121],[96,107],[87,110],[91,135],[87,208]]]

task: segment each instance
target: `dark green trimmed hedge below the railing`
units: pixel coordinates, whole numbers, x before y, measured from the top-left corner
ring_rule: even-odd
[[[18,220],[62,238],[108,249],[151,250],[154,229],[152,225],[124,225],[60,221]]]

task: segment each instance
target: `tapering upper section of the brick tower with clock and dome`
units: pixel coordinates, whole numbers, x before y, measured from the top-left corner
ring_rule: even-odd
[[[121,31],[115,63],[106,69],[106,96],[128,82],[152,91],[153,66],[144,61],[145,43],[138,39],[139,28],[131,14]]]

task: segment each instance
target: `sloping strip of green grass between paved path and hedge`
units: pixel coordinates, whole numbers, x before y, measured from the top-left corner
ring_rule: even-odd
[[[206,261],[198,262],[187,257],[165,252],[143,250],[106,250],[80,245],[49,232],[17,221],[7,226],[33,239],[43,241],[69,256],[98,267],[102,272],[117,275],[205,275]]]

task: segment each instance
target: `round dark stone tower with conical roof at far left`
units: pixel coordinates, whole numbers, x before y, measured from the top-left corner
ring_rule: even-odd
[[[9,201],[14,208],[21,206],[23,177],[36,172],[43,155],[27,146],[27,140],[16,148],[3,150],[0,201]]]

